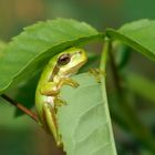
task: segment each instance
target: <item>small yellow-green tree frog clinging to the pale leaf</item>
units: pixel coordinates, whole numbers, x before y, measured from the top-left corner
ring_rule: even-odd
[[[76,87],[79,84],[70,79],[86,62],[83,49],[68,49],[50,60],[38,83],[35,108],[40,124],[52,133],[58,145],[62,144],[56,123],[56,107],[65,104],[60,96],[63,85]]]

